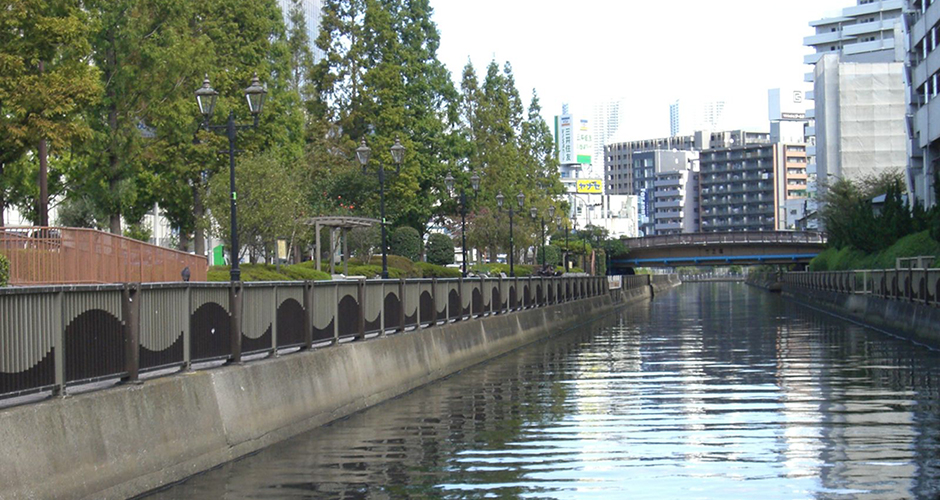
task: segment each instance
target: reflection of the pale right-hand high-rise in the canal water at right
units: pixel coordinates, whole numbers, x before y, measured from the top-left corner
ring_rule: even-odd
[[[915,394],[899,380],[904,361],[868,351],[866,335],[811,314],[779,327],[785,464],[824,491],[899,498],[914,491],[923,462],[914,451]]]

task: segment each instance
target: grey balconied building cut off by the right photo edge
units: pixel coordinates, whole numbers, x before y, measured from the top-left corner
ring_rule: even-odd
[[[940,163],[940,4],[931,0],[907,0],[906,32],[909,39],[908,89],[913,119],[909,122],[911,161],[908,191],[926,206],[934,199],[934,172]],[[913,200],[912,200],[913,202]]]

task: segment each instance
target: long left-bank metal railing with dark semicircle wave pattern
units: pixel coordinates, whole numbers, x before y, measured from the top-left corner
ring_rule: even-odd
[[[623,286],[648,284],[631,276]],[[605,276],[2,288],[0,397],[64,394],[90,381],[137,381],[142,372],[239,362],[607,293]]]

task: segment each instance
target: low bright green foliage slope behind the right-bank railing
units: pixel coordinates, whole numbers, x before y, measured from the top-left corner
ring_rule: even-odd
[[[940,243],[922,231],[899,239],[887,249],[865,254],[852,247],[827,248],[809,264],[810,271],[851,271],[856,269],[893,269],[897,259],[904,257],[935,257],[933,267],[940,266]]]

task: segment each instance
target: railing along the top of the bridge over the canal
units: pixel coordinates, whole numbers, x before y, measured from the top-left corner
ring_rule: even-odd
[[[716,245],[722,243],[814,244],[824,245],[824,233],[809,231],[739,231],[730,233],[687,233],[647,236],[623,240],[628,249],[676,245]]]

